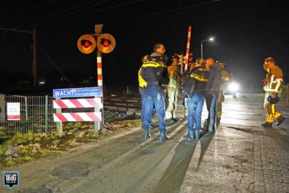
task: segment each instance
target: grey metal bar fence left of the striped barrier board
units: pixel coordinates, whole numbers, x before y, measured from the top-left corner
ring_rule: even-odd
[[[8,121],[7,103],[20,103],[20,121]],[[19,96],[0,94],[0,130],[3,132],[53,132],[52,96]]]

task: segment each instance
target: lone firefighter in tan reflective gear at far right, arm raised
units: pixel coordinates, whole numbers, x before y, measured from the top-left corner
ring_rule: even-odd
[[[277,120],[277,125],[281,125],[285,117],[281,116],[280,112],[276,110],[276,103],[278,103],[278,94],[282,88],[283,72],[276,64],[275,59],[268,57],[264,61],[264,70],[268,72],[264,80],[264,90],[266,92],[264,99],[264,108],[267,112],[266,122],[261,124],[264,128],[272,128],[274,119]]]

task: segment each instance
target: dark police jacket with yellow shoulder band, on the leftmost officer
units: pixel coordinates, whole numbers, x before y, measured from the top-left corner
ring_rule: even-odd
[[[167,85],[167,65],[157,61],[146,61],[140,68],[140,76],[147,85]]]

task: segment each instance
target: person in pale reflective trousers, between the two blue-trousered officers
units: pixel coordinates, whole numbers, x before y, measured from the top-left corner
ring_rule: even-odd
[[[169,83],[167,85],[167,96],[169,96],[169,103],[166,110],[166,121],[178,121],[175,117],[178,102],[178,57],[173,55],[172,63],[168,66]]]

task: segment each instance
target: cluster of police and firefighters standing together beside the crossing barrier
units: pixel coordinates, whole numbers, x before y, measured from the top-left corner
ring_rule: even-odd
[[[162,43],[153,45],[153,53],[142,58],[142,66],[138,71],[140,95],[142,98],[142,128],[144,139],[149,139],[153,116],[158,113],[160,142],[169,140],[166,132],[166,121],[178,121],[175,116],[178,100],[178,77],[185,77],[182,89],[187,96],[188,133],[185,139],[194,140],[200,137],[201,114],[206,99],[208,131],[215,130],[217,99],[222,85],[222,66],[213,59],[197,59],[191,63],[191,69],[184,74],[178,72],[178,57],[172,57],[172,63],[167,68],[167,57]],[[169,77],[169,79],[168,79]],[[165,92],[167,90],[167,92]],[[169,97],[165,109],[165,94]]]

